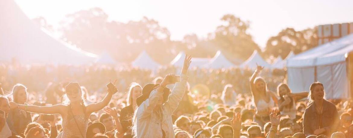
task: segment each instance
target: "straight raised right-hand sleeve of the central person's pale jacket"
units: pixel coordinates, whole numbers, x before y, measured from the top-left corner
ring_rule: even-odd
[[[171,115],[175,109],[177,109],[181,98],[183,98],[185,94],[186,81],[188,78],[189,77],[185,74],[180,75],[180,82],[175,84],[172,94],[168,96],[167,102],[163,105],[168,115]]]

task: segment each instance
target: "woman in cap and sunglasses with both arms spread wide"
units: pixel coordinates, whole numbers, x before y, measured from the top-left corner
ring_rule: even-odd
[[[113,94],[118,92],[116,87],[110,86],[106,97],[98,103],[85,105],[82,99],[82,90],[78,83],[69,83],[65,86],[65,92],[70,103],[68,105],[57,104],[53,106],[35,106],[10,103],[11,109],[20,109],[32,113],[60,114],[62,117],[62,132],[58,138],[79,137],[86,138],[88,118],[92,112],[99,111],[107,106]],[[113,87],[114,86],[114,87]]]

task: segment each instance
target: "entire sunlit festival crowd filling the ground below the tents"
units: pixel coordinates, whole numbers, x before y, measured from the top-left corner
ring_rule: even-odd
[[[353,137],[352,101],[326,99],[319,82],[292,93],[285,71],[191,62],[157,71],[2,64],[0,138]]]

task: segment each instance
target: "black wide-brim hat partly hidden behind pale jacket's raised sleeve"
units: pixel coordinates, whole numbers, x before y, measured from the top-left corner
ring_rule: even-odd
[[[148,99],[150,96],[151,92],[157,87],[159,84],[146,84],[142,88],[142,95],[137,97],[136,99],[136,104],[137,106],[140,106],[145,100]],[[163,89],[163,103],[168,100],[168,96],[170,94],[169,88],[164,88]]]

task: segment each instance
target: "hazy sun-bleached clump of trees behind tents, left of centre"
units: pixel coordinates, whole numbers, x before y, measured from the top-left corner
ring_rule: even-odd
[[[66,15],[60,31],[65,41],[96,54],[108,51],[118,61],[132,61],[146,50],[152,58],[166,63],[173,48],[168,29],[156,20],[109,21],[100,8]],[[158,58],[161,56],[167,58]]]

